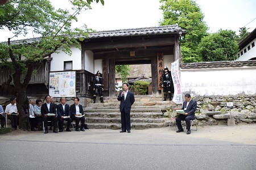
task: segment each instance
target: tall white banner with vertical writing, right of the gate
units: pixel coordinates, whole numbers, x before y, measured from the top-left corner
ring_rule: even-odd
[[[172,62],[171,74],[172,82],[174,82],[174,97],[172,98],[172,101],[174,101],[176,104],[182,104],[179,59],[177,59],[175,62]]]

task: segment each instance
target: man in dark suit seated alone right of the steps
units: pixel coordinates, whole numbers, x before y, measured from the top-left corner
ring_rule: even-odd
[[[194,120],[195,117],[195,112],[196,112],[196,101],[191,99],[191,96],[189,94],[185,94],[185,101],[183,102],[183,107],[182,108],[175,108],[174,111],[176,110],[184,110],[184,114],[177,114],[179,116],[176,117],[176,124],[177,124],[177,128],[178,130],[176,131],[176,133],[179,133],[181,131],[184,131],[181,125],[181,121],[186,122],[186,129],[187,134],[191,133],[190,130],[190,126],[191,126],[191,120]]]

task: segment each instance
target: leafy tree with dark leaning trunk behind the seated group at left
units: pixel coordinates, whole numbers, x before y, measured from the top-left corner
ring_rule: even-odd
[[[20,41],[19,44],[12,43],[11,38],[7,43],[0,43],[1,65],[9,66],[13,70],[13,75],[9,75],[9,80],[2,84],[2,88],[16,96],[20,129],[30,128],[22,106],[27,100],[26,88],[34,66],[57,50],[71,54],[70,47],[80,48],[79,41],[91,31],[86,26],[84,29],[72,29],[71,23],[77,20],[76,16],[82,10],[90,8],[89,3],[93,0],[69,2],[71,10],[55,9],[48,0],[9,0],[1,6],[3,15],[0,15],[0,29],[7,28],[15,36],[26,35],[29,31],[39,36],[33,37],[29,42]],[[23,59],[20,59],[20,56]],[[25,75],[24,79],[22,74]],[[12,80],[14,86],[10,85]]]

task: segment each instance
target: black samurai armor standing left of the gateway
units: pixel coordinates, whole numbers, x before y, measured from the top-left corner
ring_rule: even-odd
[[[101,103],[104,103],[103,101],[103,78],[102,78],[102,74],[100,73],[100,71],[97,71],[94,79],[93,79],[93,103],[96,102],[96,96],[99,95],[100,96],[100,100]]]

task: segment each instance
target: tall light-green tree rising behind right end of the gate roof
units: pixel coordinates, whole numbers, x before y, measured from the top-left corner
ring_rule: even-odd
[[[187,34],[181,39],[181,56],[183,62],[199,62],[201,58],[196,53],[201,39],[208,35],[207,24],[203,22],[204,14],[193,0],[160,0],[163,5],[163,20],[160,25],[179,24]]]

